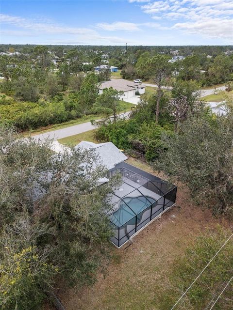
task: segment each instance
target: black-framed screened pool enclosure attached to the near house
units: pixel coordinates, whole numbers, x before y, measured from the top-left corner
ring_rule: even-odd
[[[124,162],[111,169],[109,177],[116,173],[122,184],[109,196],[112,207],[107,214],[114,231],[111,241],[120,247],[175,203],[177,186]]]

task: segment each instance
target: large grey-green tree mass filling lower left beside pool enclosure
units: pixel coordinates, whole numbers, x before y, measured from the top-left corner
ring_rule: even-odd
[[[118,178],[98,186],[106,169],[94,151],[55,155],[49,140],[18,138],[0,127],[0,307],[35,310],[57,279],[95,280]]]

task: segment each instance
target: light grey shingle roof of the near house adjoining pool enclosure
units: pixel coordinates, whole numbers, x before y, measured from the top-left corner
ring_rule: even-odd
[[[112,169],[116,164],[128,159],[112,142],[93,143],[89,141],[82,141],[75,146],[75,149],[94,149],[100,156],[100,163],[108,169]]]

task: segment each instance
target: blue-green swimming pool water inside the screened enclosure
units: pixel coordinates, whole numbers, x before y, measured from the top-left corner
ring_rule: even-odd
[[[120,204],[119,209],[116,210],[116,212],[114,212],[113,215],[110,216],[110,220],[117,227],[120,227],[121,225],[125,224],[130,219],[132,219],[132,221],[135,222],[135,219],[133,217],[135,217],[136,214],[139,214],[140,212],[145,210],[153,202],[155,202],[155,200],[147,196],[146,197],[140,196],[136,198],[126,197],[124,198],[124,200],[122,199],[119,202]],[[135,214],[131,209],[135,212]]]

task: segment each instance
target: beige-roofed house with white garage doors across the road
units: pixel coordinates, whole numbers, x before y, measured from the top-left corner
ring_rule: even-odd
[[[112,79],[110,81],[102,82],[99,88],[99,93],[102,93],[105,88],[116,89],[118,92],[123,92],[120,99],[135,97],[135,93],[145,93],[146,85],[134,83],[124,78]]]

